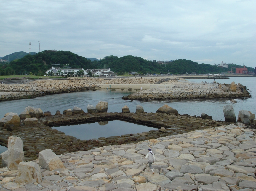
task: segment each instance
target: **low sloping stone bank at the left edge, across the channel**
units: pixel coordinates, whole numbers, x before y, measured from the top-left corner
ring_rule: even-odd
[[[14,99],[29,99],[43,96],[38,92],[0,92],[0,101],[14,100]]]

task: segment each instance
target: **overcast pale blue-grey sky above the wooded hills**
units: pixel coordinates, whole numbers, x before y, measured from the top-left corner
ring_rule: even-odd
[[[256,67],[255,0],[0,0],[0,56],[221,61]]]

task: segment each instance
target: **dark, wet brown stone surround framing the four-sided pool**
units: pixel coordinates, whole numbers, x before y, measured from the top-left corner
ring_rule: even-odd
[[[126,134],[122,136],[100,137],[98,139],[80,140],[76,137],[65,135],[50,126],[60,126],[67,124],[92,123],[106,120],[125,120],[137,122],[151,127],[166,128],[166,132],[151,130],[149,132]],[[186,133],[190,130],[205,129],[228,124],[223,121],[211,119],[201,119],[196,116],[164,113],[96,113],[96,114],[66,114],[39,117],[38,124],[26,126],[24,120],[20,121],[20,126],[13,131],[8,131],[0,127],[0,145],[7,146],[9,136],[18,136],[24,143],[26,160],[34,160],[38,153],[44,149],[52,149],[56,154],[63,154],[74,151],[90,150],[95,147],[107,145],[120,145],[133,143],[152,138],[164,137]],[[72,126],[70,126],[72,128]],[[131,132],[132,133],[132,132]]]

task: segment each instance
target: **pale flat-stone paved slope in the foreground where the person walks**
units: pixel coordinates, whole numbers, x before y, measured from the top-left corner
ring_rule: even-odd
[[[5,191],[252,191],[255,145],[255,129],[237,123],[59,156],[43,150],[18,170],[0,169],[0,186]],[[156,158],[154,174],[144,159],[148,149]]]

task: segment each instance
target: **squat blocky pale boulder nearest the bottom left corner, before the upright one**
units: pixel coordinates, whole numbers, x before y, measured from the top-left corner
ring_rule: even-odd
[[[40,167],[34,162],[20,162],[15,183],[41,183]]]

